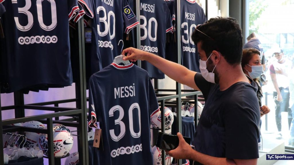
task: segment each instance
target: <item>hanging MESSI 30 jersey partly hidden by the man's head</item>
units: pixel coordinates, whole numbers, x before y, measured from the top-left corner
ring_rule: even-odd
[[[191,35],[198,24],[203,24],[206,16],[196,0],[181,0],[181,41],[183,65],[193,71],[200,72],[197,45]],[[197,43],[196,43],[197,44]]]

